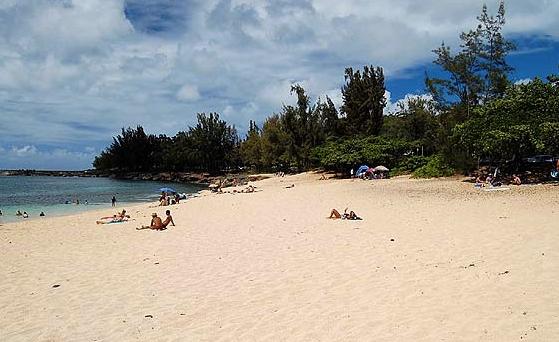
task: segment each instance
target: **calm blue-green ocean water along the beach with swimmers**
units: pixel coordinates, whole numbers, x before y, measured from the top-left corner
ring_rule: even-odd
[[[86,210],[109,208],[116,197],[117,208],[126,204],[156,201],[159,188],[170,187],[179,193],[195,193],[204,187],[152,181],[126,181],[90,177],[0,176],[0,223],[21,220],[17,210],[30,218],[61,216]],[[80,204],[76,205],[76,200]],[[88,204],[85,204],[87,201]],[[70,204],[66,204],[69,202]]]

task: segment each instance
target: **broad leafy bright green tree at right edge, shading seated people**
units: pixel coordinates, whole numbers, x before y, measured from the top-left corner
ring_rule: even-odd
[[[457,125],[453,141],[474,158],[512,161],[533,153],[559,151],[559,88],[535,79],[510,86],[505,95],[477,108]]]

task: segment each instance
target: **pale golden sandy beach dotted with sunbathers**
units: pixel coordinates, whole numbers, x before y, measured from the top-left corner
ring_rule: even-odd
[[[0,226],[0,341],[559,340],[558,186],[319,177]]]

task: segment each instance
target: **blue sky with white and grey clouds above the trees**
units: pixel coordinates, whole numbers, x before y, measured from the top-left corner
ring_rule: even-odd
[[[175,135],[218,112],[240,135],[301,84],[341,103],[346,67],[382,66],[389,112],[422,95],[432,50],[478,0],[0,0],[0,169],[78,170],[122,127]],[[506,1],[513,81],[559,73],[559,1]]]

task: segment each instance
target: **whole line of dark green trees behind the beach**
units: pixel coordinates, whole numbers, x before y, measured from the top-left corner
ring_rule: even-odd
[[[457,52],[444,43],[433,50],[445,76],[426,75],[429,96],[410,98],[388,115],[382,67],[346,68],[339,110],[331,98],[313,100],[293,85],[296,104],[261,126],[250,121],[243,138],[219,114],[200,113],[195,126],[174,137],[123,128],[93,165],[120,172],[222,172],[383,164],[440,176],[471,170],[480,159],[518,169],[531,154],[559,153],[558,77],[513,84],[507,56],[515,46],[502,35],[504,3],[496,15],[483,6],[477,19],[460,35]]]

